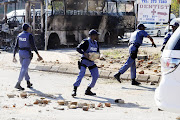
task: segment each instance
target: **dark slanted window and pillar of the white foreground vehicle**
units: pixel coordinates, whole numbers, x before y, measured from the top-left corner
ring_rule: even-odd
[[[180,27],[174,32],[172,37],[169,39],[166,50],[180,50]]]

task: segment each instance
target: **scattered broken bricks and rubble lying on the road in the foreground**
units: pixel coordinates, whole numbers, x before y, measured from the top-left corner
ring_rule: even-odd
[[[22,98],[22,99],[26,99],[29,96],[38,96],[35,93],[30,93],[27,94],[26,92],[22,92],[20,93],[20,95],[16,95],[16,94],[7,94],[8,98]],[[52,96],[51,96],[52,97]],[[39,105],[42,107],[45,107],[46,105],[50,105],[50,103],[52,103],[51,100],[47,100],[45,97],[41,97],[39,99],[36,99],[33,103],[25,103],[24,106],[34,106],[34,105]],[[124,104],[124,100],[122,99],[116,99],[115,103],[117,104]],[[106,102],[106,103],[86,103],[86,102],[77,102],[77,101],[68,101],[68,100],[58,100],[55,102],[56,107],[53,107],[53,109],[56,110],[69,110],[69,109],[82,109],[83,111],[89,111],[90,109],[94,109],[94,110],[103,110],[103,108],[109,108],[112,107],[111,103]],[[16,107],[16,104],[12,105],[13,108]],[[8,106],[3,106],[3,108],[10,108]]]

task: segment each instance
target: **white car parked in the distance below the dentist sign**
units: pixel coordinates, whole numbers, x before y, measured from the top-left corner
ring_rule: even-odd
[[[160,23],[160,22],[141,22],[147,28],[145,31],[151,36],[164,36],[165,28],[168,26],[168,23]]]

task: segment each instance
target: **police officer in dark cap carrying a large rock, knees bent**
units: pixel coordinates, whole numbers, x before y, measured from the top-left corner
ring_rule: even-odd
[[[79,76],[76,79],[76,82],[74,83],[74,90],[72,92],[72,96],[76,96],[77,88],[79,87],[82,78],[85,75],[86,68],[89,68],[92,76],[92,81],[88,85],[87,90],[85,91],[85,95],[96,95],[96,93],[93,93],[91,91],[91,88],[93,88],[96,84],[96,81],[99,77],[99,72],[96,64],[94,61],[89,60],[89,53],[96,52],[99,53],[99,44],[96,41],[98,39],[99,33],[92,29],[89,31],[89,37],[87,39],[84,39],[77,47],[77,51],[82,54],[82,60],[79,62]]]

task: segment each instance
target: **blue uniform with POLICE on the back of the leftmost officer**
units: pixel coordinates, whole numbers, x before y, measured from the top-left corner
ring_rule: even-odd
[[[24,77],[26,81],[30,80],[28,75],[28,67],[32,59],[31,50],[38,53],[32,34],[28,33],[27,31],[23,31],[17,36],[14,57],[18,49],[21,63],[21,71],[18,78],[18,82],[20,83]]]

